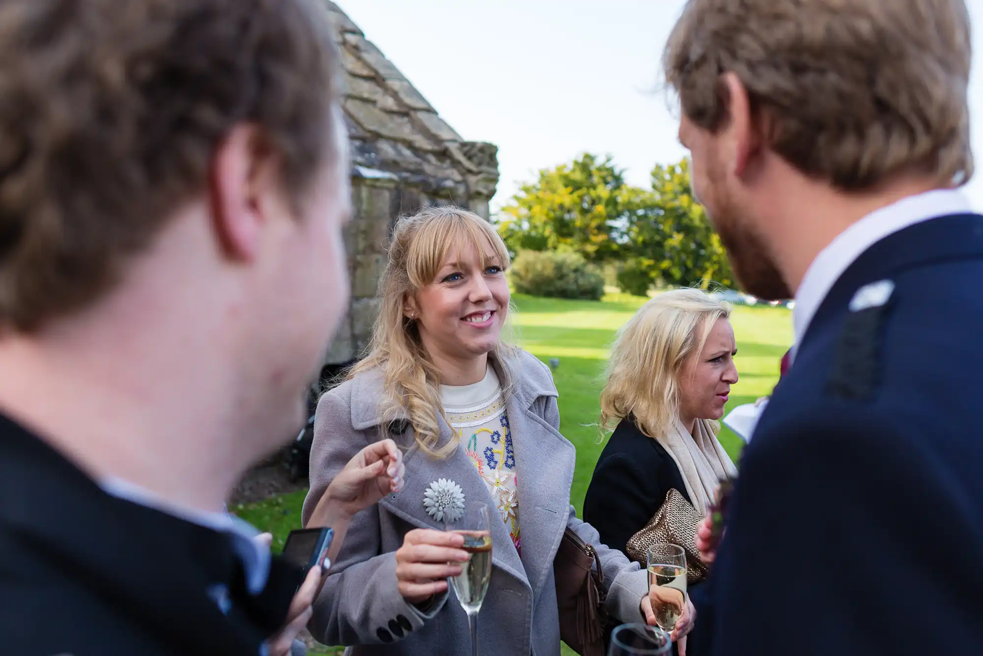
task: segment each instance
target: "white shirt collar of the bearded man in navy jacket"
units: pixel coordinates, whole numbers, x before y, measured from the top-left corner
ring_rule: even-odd
[[[955,189],[936,189],[909,196],[876,209],[839,233],[806,269],[792,310],[794,343],[789,358],[794,360],[798,344],[839,276],[864,251],[906,227],[938,216],[972,212],[969,202]]]

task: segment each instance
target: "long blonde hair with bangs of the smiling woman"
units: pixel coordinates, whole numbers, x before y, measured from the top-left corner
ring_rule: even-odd
[[[349,378],[379,368],[382,371],[383,417],[395,419],[399,410],[409,415],[417,445],[436,457],[446,457],[457,448],[460,436],[451,431],[450,441],[440,440],[438,417],[450,425],[440,400],[440,372],[424,348],[417,323],[404,315],[404,301],[433,284],[452,249],[470,246],[483,259],[507,269],[508,250],[492,225],[478,214],[450,206],[421,209],[397,222],[389,244],[389,258],[378,282],[378,319],[365,359],[356,364]],[[491,247],[492,259],[486,255]],[[516,355],[508,339],[502,339],[489,354],[498,365],[503,393],[512,388],[511,361]]]

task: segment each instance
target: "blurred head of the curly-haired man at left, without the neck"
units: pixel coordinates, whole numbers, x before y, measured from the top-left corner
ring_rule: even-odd
[[[238,360],[237,439],[287,437],[347,305],[336,65],[317,0],[0,4],[0,343],[177,318],[147,379]]]

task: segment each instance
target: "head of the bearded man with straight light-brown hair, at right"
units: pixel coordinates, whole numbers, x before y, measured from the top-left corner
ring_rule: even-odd
[[[866,194],[972,175],[963,0],[689,0],[665,46],[693,187],[745,289],[787,298],[779,176]],[[766,196],[771,196],[768,198]]]

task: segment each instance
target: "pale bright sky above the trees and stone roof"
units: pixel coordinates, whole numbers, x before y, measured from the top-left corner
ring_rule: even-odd
[[[584,151],[611,154],[636,185],[684,154],[657,92],[681,0],[336,1],[464,139],[498,146],[492,207]],[[983,209],[983,0],[967,4],[981,165],[965,189]]]

